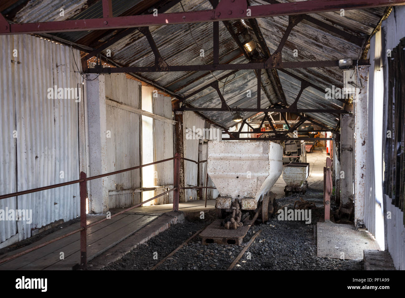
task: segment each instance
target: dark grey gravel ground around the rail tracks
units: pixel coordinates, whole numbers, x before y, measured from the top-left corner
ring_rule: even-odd
[[[311,211],[311,224],[305,224],[304,221],[279,221],[276,218],[266,224],[256,222],[243,239],[242,247],[219,244],[205,246],[196,237],[157,269],[226,270],[252,235],[261,229],[261,234],[233,270],[362,270],[361,259],[344,261],[316,256],[313,226],[324,212],[323,194],[317,184],[301,196],[318,207]],[[294,200],[284,201],[279,203],[279,208],[288,206],[290,209],[293,205]],[[331,207],[333,212],[336,209],[334,202]],[[214,218],[215,212],[212,211],[205,214],[204,220],[173,225],[104,270],[149,270]],[[154,252],[158,253],[158,259],[153,259]]]

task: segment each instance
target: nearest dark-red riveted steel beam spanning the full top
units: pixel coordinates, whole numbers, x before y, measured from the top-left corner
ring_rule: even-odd
[[[40,32],[87,31],[184,23],[191,24],[231,19],[254,19],[258,17],[322,13],[340,11],[341,9],[365,9],[403,4],[405,4],[405,2],[402,0],[310,0],[247,6],[246,0],[233,0],[233,2],[232,0],[222,0],[215,9],[202,11],[158,13],[155,16],[132,15],[99,19],[9,24],[0,28],[0,34],[31,34]],[[249,11],[247,9],[249,9]],[[5,28],[6,26],[8,26],[8,28]]]

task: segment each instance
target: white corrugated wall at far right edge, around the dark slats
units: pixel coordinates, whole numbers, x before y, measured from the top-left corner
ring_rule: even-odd
[[[399,40],[405,36],[405,7],[393,6],[389,17],[382,22],[382,30],[385,36],[385,51],[393,49],[399,44]],[[384,55],[386,65],[386,55]],[[384,69],[384,85],[388,86],[388,69]],[[388,88],[384,88],[384,99],[388,98]],[[388,128],[384,127],[383,131]],[[386,212],[391,212],[391,219],[385,220],[386,248],[390,252],[397,270],[405,270],[405,227],[403,224],[404,214],[394,205],[391,199],[384,195]],[[385,212],[385,214],[386,214]]]

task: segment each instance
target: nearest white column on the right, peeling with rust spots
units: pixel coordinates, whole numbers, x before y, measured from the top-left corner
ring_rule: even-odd
[[[366,193],[367,113],[369,66],[358,68],[357,83],[361,86],[354,102],[354,225],[364,227],[364,196]]]

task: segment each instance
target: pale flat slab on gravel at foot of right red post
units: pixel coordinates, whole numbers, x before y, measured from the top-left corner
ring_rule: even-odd
[[[379,245],[369,232],[356,230],[353,225],[318,222],[316,237],[318,257],[360,259],[364,249],[379,250]]]

